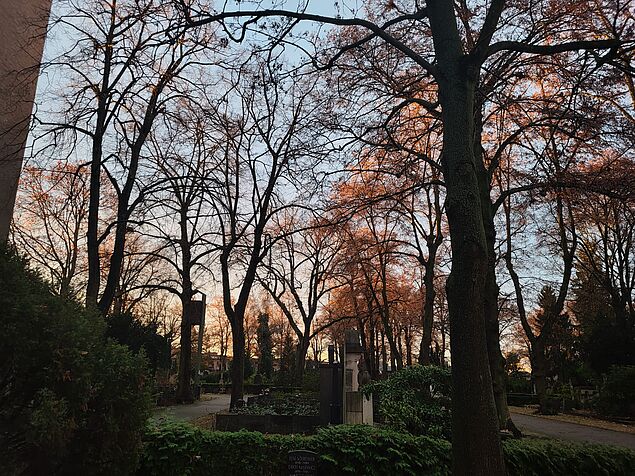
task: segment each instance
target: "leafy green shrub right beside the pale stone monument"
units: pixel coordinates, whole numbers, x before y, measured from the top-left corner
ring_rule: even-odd
[[[451,376],[448,369],[415,365],[362,389],[379,399],[379,413],[394,430],[450,438]]]

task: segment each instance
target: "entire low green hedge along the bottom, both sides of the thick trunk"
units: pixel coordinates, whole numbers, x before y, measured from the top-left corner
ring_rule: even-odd
[[[320,455],[320,475],[448,475],[451,446],[441,439],[363,425],[324,428],[313,436],[202,430],[186,423],[153,421],[144,438],[143,476],[287,474],[287,452]],[[555,440],[504,443],[510,476],[627,475],[635,453],[609,446]]]

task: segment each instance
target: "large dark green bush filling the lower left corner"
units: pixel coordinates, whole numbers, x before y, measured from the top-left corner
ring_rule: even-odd
[[[149,413],[147,366],[101,318],[0,250],[0,474],[126,474]]]

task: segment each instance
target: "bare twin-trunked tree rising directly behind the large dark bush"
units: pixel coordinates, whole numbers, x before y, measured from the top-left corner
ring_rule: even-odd
[[[126,234],[144,199],[139,175],[155,120],[177,100],[188,71],[209,46],[208,28],[179,30],[175,10],[154,0],[108,4],[69,1],[52,21],[73,42],[45,65],[69,82],[60,92],[60,110],[38,115],[40,153],[50,149],[84,155],[90,149],[86,302],[110,309],[120,283]],[[116,194],[114,221],[100,230],[102,173]],[[112,235],[102,287],[100,247]]]

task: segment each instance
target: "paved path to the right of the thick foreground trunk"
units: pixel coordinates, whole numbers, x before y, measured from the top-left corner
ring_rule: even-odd
[[[576,423],[550,420],[539,416],[513,413],[514,423],[525,433],[561,440],[623,446],[635,450],[635,435]]]

